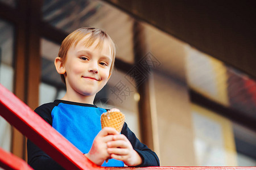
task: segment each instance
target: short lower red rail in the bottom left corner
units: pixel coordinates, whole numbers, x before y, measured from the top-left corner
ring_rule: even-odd
[[[3,150],[0,147],[0,167],[4,169],[32,170],[23,159]]]

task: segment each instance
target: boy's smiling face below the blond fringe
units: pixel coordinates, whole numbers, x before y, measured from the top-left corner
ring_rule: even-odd
[[[97,41],[86,47],[83,41],[68,50],[64,62],[67,92],[74,95],[93,96],[100,91],[110,77],[112,53],[108,42],[102,48],[96,47]]]

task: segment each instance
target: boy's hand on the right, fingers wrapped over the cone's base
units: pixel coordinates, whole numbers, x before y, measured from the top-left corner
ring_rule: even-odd
[[[127,166],[136,166],[142,163],[141,156],[133,149],[130,141],[123,134],[113,135],[113,141],[109,141],[107,146],[110,157],[122,160]]]

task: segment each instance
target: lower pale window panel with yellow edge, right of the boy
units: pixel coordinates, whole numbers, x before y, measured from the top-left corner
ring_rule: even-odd
[[[198,105],[192,105],[197,165],[235,166],[236,147],[232,122]]]

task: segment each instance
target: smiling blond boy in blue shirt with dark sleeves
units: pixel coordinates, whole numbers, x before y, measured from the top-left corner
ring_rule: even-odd
[[[101,29],[72,32],[63,40],[55,59],[67,92],[61,100],[44,104],[35,112],[97,165],[159,166],[155,152],[139,142],[126,123],[121,134],[113,128],[101,129],[100,116],[106,109],[93,105],[93,100],[108,82],[114,59],[114,43]],[[32,168],[62,169],[29,140],[27,151]]]

